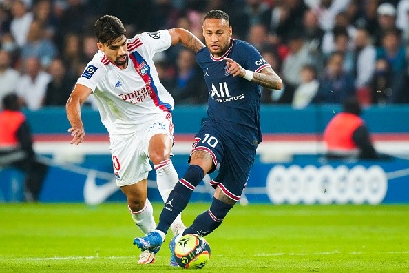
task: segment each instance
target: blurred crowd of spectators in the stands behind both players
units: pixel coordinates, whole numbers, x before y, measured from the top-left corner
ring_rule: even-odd
[[[30,110],[65,105],[97,50],[103,14],[120,18],[127,37],[180,27],[202,39],[213,9],[282,77],[284,88],[263,89],[262,103],[409,103],[409,0],[0,0],[0,101],[14,92]],[[176,104],[206,103],[193,52],[176,46],[154,61]]]

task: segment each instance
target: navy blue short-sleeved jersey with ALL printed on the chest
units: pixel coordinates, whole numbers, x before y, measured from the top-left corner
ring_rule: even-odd
[[[196,61],[202,68],[209,90],[207,117],[234,132],[239,138],[257,145],[262,141],[260,85],[242,77],[233,77],[225,57],[253,72],[260,72],[270,65],[253,45],[235,39],[231,39],[230,48],[222,57],[213,57],[208,48],[202,48],[196,54]]]

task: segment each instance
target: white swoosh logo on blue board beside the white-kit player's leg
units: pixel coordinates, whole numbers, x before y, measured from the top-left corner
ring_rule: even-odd
[[[115,179],[103,184],[96,185],[96,170],[90,170],[84,184],[84,201],[87,205],[99,205],[119,190]]]

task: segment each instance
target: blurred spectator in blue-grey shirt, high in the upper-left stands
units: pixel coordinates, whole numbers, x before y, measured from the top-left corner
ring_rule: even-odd
[[[45,37],[40,21],[32,21],[30,32],[27,35],[27,42],[21,48],[21,58],[36,57],[40,60],[41,66],[47,68],[52,59],[58,54],[54,43]]]

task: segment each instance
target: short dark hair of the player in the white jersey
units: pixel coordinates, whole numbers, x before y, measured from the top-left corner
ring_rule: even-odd
[[[117,17],[104,15],[96,20],[94,24],[94,32],[98,42],[105,45],[111,45],[117,39],[125,37],[127,30]]]

